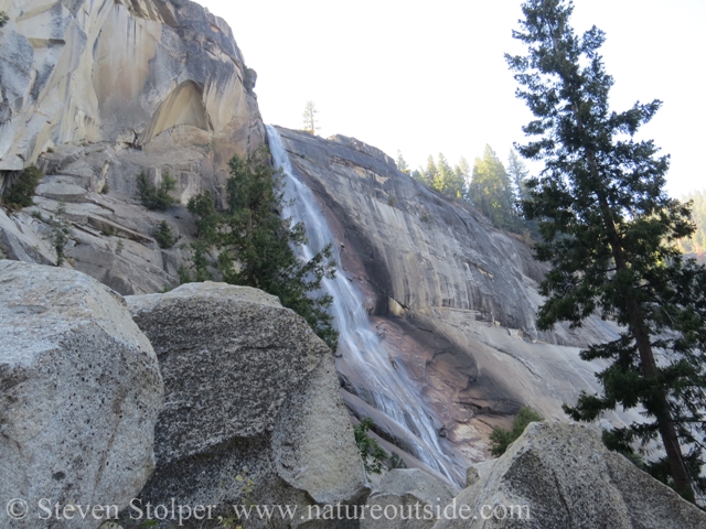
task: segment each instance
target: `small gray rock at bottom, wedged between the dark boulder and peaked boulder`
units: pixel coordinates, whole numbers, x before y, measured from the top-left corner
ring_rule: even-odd
[[[367,498],[361,529],[427,529],[457,490],[418,468],[388,472]],[[376,519],[377,518],[377,519]]]

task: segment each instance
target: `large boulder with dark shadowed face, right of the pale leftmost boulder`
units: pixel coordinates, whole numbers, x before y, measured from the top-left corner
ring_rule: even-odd
[[[304,511],[359,499],[363,466],[333,357],[301,317],[224,283],[127,300],[165,381],[145,501],[244,504],[238,474],[253,479],[259,504]]]

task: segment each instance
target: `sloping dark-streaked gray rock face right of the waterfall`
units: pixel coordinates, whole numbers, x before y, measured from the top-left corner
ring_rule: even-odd
[[[576,332],[538,332],[543,268],[527,245],[398,172],[375,148],[278,130],[327,216],[343,274],[365,296],[386,356],[434,407],[439,443],[460,451],[460,467],[486,458],[491,427],[507,428],[520,407],[565,418],[564,402],[599,389],[599,364],[581,360],[578,347],[614,331],[590,320]],[[370,401],[364,377],[345,352],[336,361],[345,391],[360,397],[345,398],[352,413],[373,417],[361,403]],[[376,433],[397,443],[376,422]]]

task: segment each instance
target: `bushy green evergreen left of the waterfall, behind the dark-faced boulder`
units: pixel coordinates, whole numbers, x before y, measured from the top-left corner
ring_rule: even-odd
[[[196,280],[207,279],[207,248],[218,250],[216,269],[231,284],[254,287],[277,295],[284,306],[302,316],[333,350],[338,333],[327,309],[330,295],[315,295],[323,278],[332,278],[335,262],[331,245],[308,262],[295,256],[292,245],[307,241],[302,223],[291,225],[277,214],[281,209],[281,173],[269,162],[269,151],[260,148],[248,159],[229,161],[225,212],[217,212],[210,193],[189,201],[200,240],[192,244]],[[182,276],[188,276],[182,272]]]

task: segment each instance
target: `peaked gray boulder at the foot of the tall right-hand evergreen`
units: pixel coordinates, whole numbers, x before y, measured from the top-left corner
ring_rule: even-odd
[[[456,498],[435,529],[697,529],[706,512],[609,452],[600,436],[567,423],[532,423],[488,475]],[[514,508],[513,508],[514,507]]]

